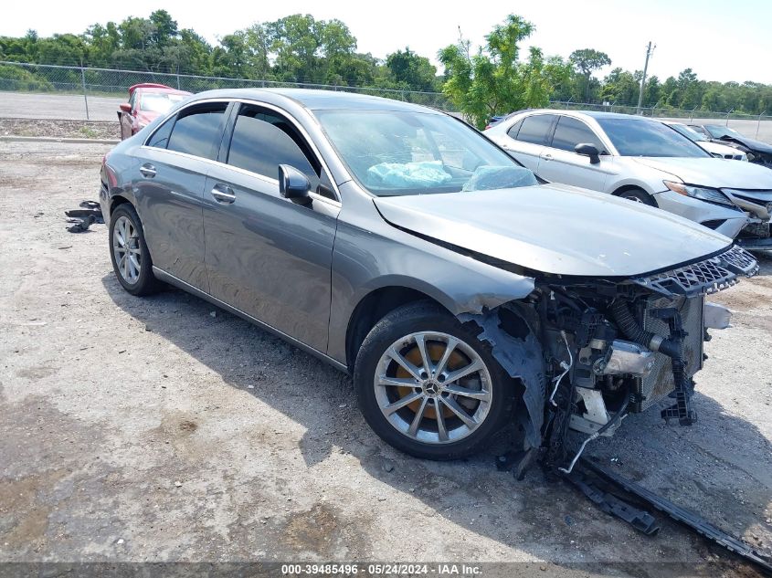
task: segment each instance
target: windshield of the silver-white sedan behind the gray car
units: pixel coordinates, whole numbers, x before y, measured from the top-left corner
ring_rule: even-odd
[[[709,157],[699,145],[661,122],[642,119],[598,119],[622,156]]]

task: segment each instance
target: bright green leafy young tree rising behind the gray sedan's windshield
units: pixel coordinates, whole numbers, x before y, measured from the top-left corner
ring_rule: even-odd
[[[442,91],[478,128],[496,113],[546,106],[556,79],[569,73],[569,65],[557,58],[545,61],[535,47],[526,60],[519,59],[518,44],[533,32],[533,24],[510,15],[475,55],[463,40],[439,51],[446,74]]]

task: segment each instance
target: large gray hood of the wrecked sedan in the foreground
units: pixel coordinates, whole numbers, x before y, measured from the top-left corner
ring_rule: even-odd
[[[563,184],[377,197],[375,205],[407,231],[560,275],[633,277],[732,243],[648,205]]]

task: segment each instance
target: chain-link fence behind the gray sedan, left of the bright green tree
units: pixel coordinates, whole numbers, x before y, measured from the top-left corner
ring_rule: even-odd
[[[85,98],[85,107],[88,107],[90,98],[119,97],[125,100],[129,87],[143,82],[165,84],[172,88],[189,92],[248,88],[340,90],[343,92],[369,94],[387,99],[404,100],[440,110],[452,110],[449,100],[440,92],[279,82],[275,80],[230,79],[139,70],[80,68],[0,61],[0,90],[79,94]],[[87,116],[87,120],[88,118]]]

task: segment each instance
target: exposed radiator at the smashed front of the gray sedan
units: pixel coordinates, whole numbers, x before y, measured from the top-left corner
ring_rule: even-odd
[[[649,311],[672,307],[679,310],[683,330],[689,333],[683,340],[683,361],[687,377],[692,377],[703,367],[703,302],[702,295],[692,298],[678,297],[674,300],[655,298],[647,301],[646,310],[643,311],[643,329],[668,337],[670,328],[667,321],[651,316]],[[649,375],[637,381],[637,399],[630,405],[633,412],[644,411],[650,405],[667,397],[675,389],[670,357],[657,352],[654,354],[654,359],[654,367]]]

